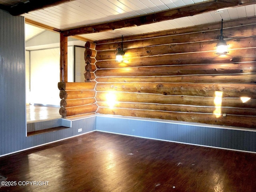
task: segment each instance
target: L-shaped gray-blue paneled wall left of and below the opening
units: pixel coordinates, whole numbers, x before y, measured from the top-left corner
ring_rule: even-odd
[[[24,17],[0,10],[0,156],[95,130],[96,117],[26,137]],[[56,89],[58,85],[56,84]]]

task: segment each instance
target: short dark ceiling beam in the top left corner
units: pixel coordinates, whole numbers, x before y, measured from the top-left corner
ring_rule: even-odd
[[[9,8],[3,8],[7,10],[13,16],[18,16],[30,11],[35,11],[38,9],[44,9],[51,6],[56,6],[62,3],[70,2],[74,0],[28,0],[25,3],[20,3]]]

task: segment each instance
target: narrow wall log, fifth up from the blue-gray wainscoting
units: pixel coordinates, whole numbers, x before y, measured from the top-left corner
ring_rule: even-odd
[[[256,73],[253,74],[221,74],[221,75],[187,75],[187,76],[152,76],[152,77],[97,77],[97,82],[163,82],[163,83],[254,83]]]

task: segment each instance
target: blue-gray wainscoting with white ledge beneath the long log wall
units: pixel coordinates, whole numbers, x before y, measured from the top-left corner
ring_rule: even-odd
[[[256,130],[97,116],[96,130],[173,142],[256,152]]]

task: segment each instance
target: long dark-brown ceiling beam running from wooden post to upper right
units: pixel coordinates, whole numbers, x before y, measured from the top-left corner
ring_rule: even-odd
[[[115,30],[115,29],[120,29],[124,27],[140,26],[144,24],[151,24],[155,22],[172,20],[172,19],[186,17],[186,16],[193,16],[193,15],[202,14],[205,12],[219,10],[222,8],[246,6],[250,4],[255,4],[255,0],[210,0],[203,3],[170,9],[162,12],[156,12],[156,13],[148,14],[144,16],[127,18],[123,20],[95,24],[90,26],[82,26],[79,28],[62,30],[61,32],[64,34],[64,36],[74,36],[74,35],[81,35],[81,34],[104,32],[104,31]]]

